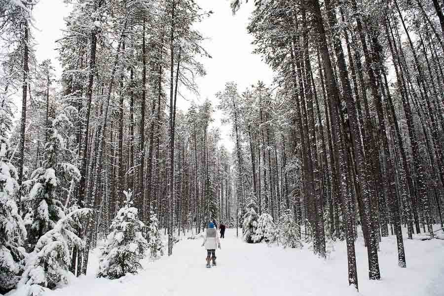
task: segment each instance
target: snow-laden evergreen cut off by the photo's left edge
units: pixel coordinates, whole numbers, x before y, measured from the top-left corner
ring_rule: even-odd
[[[15,288],[23,271],[21,247],[26,230],[19,214],[15,195],[18,190],[17,170],[8,161],[10,154],[7,133],[12,124],[12,112],[8,101],[3,99],[0,108],[0,293]]]

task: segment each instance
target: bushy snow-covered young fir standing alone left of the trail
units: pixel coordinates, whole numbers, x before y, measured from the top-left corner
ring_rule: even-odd
[[[145,225],[138,210],[132,207],[131,192],[124,192],[125,205],[111,222],[111,233],[102,248],[97,277],[117,279],[127,273],[136,274],[142,268],[148,242],[142,235]]]

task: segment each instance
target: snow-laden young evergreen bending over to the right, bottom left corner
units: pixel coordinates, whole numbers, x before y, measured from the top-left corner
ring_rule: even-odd
[[[88,221],[90,209],[77,209],[60,219],[52,230],[42,235],[26,258],[25,271],[17,285],[17,296],[39,296],[49,289],[69,283],[71,250],[84,248],[77,236],[79,223]]]

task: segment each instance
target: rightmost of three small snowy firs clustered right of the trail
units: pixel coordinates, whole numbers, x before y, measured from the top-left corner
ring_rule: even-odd
[[[299,226],[290,210],[285,210],[279,217],[279,225],[277,227],[278,241],[284,248],[301,248]]]

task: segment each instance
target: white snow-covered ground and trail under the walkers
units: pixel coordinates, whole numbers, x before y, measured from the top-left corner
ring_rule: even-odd
[[[437,227],[438,228],[438,227]],[[407,268],[398,267],[396,237],[380,244],[381,279],[368,279],[367,252],[356,242],[359,293],[348,286],[345,242],[328,260],[310,250],[244,243],[228,229],[217,250],[218,266],[205,268],[202,240],[183,239],[173,256],[144,262],[144,270],[119,280],[95,278],[97,253],[88,275],[45,296],[443,296],[444,240],[407,240]]]

